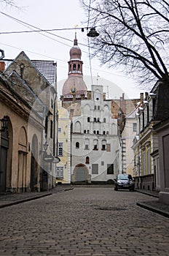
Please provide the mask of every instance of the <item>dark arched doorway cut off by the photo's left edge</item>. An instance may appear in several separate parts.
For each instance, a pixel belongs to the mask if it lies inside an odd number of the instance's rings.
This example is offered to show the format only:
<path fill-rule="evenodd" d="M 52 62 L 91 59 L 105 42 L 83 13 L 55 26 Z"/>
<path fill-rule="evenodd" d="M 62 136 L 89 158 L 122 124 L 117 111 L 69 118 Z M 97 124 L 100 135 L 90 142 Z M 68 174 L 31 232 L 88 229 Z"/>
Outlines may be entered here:
<path fill-rule="evenodd" d="M 1 132 L 0 148 L 0 192 L 6 192 L 7 187 L 7 154 L 9 148 L 8 129 Z"/>

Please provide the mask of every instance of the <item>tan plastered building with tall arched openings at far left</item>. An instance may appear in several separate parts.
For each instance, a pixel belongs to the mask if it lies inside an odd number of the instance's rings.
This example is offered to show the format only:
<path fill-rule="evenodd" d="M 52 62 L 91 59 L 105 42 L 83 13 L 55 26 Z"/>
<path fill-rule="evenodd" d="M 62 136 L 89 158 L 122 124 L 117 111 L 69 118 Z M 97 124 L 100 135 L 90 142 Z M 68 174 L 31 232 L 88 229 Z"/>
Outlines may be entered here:
<path fill-rule="evenodd" d="M 0 118 L 8 119 L 7 129 L 0 133 L 0 191 L 38 192 L 42 189 L 39 150 L 44 125 L 42 115 L 31 113 L 36 96 L 17 74 L 15 84 L 4 75 L 0 79 Z M 39 102 L 39 110 L 43 109 Z"/>

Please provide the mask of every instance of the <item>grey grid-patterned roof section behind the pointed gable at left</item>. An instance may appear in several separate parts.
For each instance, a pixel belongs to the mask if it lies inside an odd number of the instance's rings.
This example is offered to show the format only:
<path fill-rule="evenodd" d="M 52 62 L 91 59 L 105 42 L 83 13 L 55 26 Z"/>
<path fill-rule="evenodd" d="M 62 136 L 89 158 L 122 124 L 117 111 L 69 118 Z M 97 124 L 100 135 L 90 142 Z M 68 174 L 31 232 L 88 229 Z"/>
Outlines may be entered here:
<path fill-rule="evenodd" d="M 32 60 L 31 60 L 32 61 Z M 32 61 L 36 69 L 44 75 L 53 86 L 55 86 L 56 81 L 56 63 L 54 61 Z"/>

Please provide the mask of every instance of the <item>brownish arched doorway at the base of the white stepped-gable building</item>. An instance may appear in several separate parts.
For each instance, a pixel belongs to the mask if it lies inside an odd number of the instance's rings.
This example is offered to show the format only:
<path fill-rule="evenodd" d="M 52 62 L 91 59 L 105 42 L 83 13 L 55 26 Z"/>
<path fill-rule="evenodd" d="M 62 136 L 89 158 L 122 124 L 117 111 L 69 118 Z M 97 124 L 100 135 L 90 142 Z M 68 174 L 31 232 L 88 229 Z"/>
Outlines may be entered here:
<path fill-rule="evenodd" d="M 79 164 L 74 168 L 74 182 L 87 183 L 89 171 L 85 165 Z"/>

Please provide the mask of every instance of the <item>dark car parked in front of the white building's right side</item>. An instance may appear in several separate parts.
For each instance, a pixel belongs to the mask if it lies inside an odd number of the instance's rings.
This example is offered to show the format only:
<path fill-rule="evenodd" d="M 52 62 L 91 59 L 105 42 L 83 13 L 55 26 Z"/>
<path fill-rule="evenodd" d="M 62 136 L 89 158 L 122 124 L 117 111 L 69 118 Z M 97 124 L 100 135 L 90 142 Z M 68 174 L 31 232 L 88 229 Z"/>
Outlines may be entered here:
<path fill-rule="evenodd" d="M 117 174 L 117 178 L 114 178 L 114 181 L 114 190 L 130 189 L 130 191 L 134 191 L 135 182 L 130 174 Z"/>

